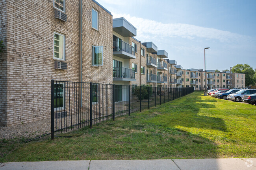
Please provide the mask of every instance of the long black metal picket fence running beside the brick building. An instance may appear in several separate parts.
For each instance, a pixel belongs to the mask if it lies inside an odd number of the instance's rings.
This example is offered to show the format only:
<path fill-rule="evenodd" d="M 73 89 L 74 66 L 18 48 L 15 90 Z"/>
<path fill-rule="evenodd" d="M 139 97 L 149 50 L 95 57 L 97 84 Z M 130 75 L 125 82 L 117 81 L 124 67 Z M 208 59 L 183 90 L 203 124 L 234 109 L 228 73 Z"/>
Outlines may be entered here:
<path fill-rule="evenodd" d="M 163 88 L 87 82 L 51 82 L 51 138 L 93 124 L 115 120 L 172 101 L 194 88 Z"/>

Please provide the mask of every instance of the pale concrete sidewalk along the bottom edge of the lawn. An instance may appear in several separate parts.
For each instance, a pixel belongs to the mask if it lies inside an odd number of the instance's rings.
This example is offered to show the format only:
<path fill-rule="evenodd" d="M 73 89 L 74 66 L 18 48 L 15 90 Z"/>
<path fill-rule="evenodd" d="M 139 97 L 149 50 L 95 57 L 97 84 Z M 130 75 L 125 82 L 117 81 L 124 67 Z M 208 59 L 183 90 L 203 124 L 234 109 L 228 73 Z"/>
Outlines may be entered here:
<path fill-rule="evenodd" d="M 256 158 L 12 162 L 0 170 L 256 170 Z"/>

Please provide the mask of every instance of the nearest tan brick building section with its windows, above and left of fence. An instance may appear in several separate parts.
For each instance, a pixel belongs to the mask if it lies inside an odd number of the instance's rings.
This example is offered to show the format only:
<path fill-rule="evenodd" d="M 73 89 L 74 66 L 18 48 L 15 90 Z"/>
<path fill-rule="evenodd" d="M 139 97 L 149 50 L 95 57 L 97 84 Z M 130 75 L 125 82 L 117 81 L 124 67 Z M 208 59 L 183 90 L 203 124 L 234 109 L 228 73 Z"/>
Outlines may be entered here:
<path fill-rule="evenodd" d="M 51 79 L 113 82 L 113 18 L 95 0 L 4 0 L 0 15 L 0 126 L 49 118 Z"/>

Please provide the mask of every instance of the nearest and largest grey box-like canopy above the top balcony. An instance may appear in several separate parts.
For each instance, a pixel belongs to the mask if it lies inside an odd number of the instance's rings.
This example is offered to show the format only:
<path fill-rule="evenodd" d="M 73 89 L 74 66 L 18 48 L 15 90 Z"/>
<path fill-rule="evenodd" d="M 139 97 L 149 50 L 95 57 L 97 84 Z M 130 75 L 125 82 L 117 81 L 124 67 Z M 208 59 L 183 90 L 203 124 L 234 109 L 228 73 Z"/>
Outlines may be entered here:
<path fill-rule="evenodd" d="M 113 19 L 113 31 L 122 35 L 122 37 L 134 37 L 137 35 L 137 29 L 123 17 Z"/>

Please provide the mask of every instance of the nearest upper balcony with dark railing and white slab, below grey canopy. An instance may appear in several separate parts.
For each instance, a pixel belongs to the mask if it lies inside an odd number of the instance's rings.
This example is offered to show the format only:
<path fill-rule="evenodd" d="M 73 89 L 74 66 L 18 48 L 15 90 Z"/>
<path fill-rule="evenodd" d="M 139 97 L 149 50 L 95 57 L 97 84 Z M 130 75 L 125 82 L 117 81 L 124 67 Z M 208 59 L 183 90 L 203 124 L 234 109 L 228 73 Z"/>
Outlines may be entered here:
<path fill-rule="evenodd" d="M 113 55 L 123 59 L 135 59 L 134 47 L 124 41 L 113 41 Z"/>

